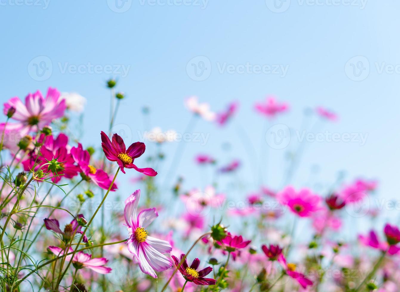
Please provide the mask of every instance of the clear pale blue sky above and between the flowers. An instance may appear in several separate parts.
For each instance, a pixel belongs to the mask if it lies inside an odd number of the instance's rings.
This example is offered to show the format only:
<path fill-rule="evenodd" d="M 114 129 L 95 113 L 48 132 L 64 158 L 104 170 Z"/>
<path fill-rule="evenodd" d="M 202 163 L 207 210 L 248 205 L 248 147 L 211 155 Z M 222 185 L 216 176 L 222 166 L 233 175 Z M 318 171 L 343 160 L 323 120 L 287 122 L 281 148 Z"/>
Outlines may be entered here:
<path fill-rule="evenodd" d="M 318 1 L 322 5 L 292 0 L 281 13 L 272 12 L 268 0 L 268 5 L 264 0 L 209 0 L 205 7 L 196 1 L 186 2 L 189 6 L 153 6 L 151 1 L 128 0 L 126 5 L 130 8 L 123 13 L 113 11 L 110 7 L 115 10 L 115 3 L 106 0 L 50 0 L 47 7 L 43 1 L 34 6 L 26 5 L 29 3 L 25 1 L 19 6 L 14 0 L 1 2 L 1 101 L 13 96 L 23 98 L 36 89 L 45 92 L 48 86 L 80 93 L 88 100 L 82 139 L 85 146 L 98 145 L 100 131 L 108 127 L 109 92 L 104 83 L 109 77 L 117 77 L 117 89 L 127 94 L 116 123 L 128 125 L 133 141 L 138 140 L 137 131 L 145 129 L 143 105 L 151 109 L 152 126 L 182 132 L 190 120 L 184 97 L 198 95 L 216 111 L 236 99 L 240 101 L 240 111 L 228 127 L 218 129 L 205 121 L 197 123 L 194 131 L 210 133 L 209 140 L 204 146 L 186 145 L 177 173 L 185 173 L 186 187 L 198 185 L 199 172 L 193 157 L 202 152 L 218 157 L 221 162 L 241 158 L 244 167 L 240 177 L 250 182 L 252 172 L 236 125 L 246 129 L 259 151 L 265 121 L 254 113 L 253 104 L 267 94 L 275 94 L 291 105 L 290 113 L 279 117 L 278 123 L 296 129 L 304 108 L 323 105 L 334 109 L 340 121 L 321 125 L 320 130 L 368 133 L 362 146 L 346 142 L 309 143 L 295 185 L 305 185 L 312 165 L 319 165 L 317 180 L 325 185 L 334 181 L 338 171 L 346 170 L 348 180 L 379 179 L 380 197 L 398 197 L 400 155 L 396 127 L 400 122 L 400 72 L 379 71 L 382 64 L 400 64 L 397 1 L 370 0 L 360 9 L 361 1 L 353 2 L 357 6 L 346 6 L 348 2 L 342 0 L 334 6 L 330 0 Z M 38 56 L 48 57 L 52 64 L 52 72 L 44 81 L 32 78 L 32 71 L 28 70 L 31 60 Z M 186 70 L 196 56 L 206 56 L 211 63 L 211 74 L 203 81 L 191 79 L 192 73 Z M 361 81 L 352 80 L 351 71 L 345 71 L 346 63 L 354 56 L 364 56 L 370 64 L 369 75 L 361 75 Z M 356 69 L 362 60 L 360 68 L 366 67 L 365 59 L 358 58 L 353 62 Z M 126 76 L 63 73 L 60 69 L 66 64 L 79 66 L 88 62 L 102 68 L 124 65 L 130 69 Z M 218 72 L 218 64 L 225 62 L 235 66 L 249 62 L 289 67 L 284 77 Z M 347 66 L 351 70 L 352 65 Z M 223 150 L 224 142 L 231 144 L 228 153 Z M 176 146 L 165 148 L 169 159 Z M 280 185 L 287 150 L 271 150 L 268 155 L 272 157 L 268 170 L 271 187 Z M 138 166 L 145 167 L 146 162 L 138 160 Z M 161 181 L 163 175 L 160 171 Z M 128 195 L 132 185 L 125 185 L 122 190 Z"/>

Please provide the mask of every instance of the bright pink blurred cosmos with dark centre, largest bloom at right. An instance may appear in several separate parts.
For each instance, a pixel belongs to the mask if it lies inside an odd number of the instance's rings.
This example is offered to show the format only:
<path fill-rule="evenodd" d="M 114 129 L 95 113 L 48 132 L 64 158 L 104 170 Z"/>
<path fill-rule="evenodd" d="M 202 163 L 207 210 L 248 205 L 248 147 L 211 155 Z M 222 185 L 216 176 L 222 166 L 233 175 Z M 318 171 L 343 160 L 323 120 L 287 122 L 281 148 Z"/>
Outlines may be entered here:
<path fill-rule="evenodd" d="M 289 186 L 279 193 L 277 198 L 300 217 L 310 217 L 314 212 L 321 209 L 319 206 L 321 197 L 314 195 L 309 189 L 301 189 L 296 192 L 293 187 Z"/>

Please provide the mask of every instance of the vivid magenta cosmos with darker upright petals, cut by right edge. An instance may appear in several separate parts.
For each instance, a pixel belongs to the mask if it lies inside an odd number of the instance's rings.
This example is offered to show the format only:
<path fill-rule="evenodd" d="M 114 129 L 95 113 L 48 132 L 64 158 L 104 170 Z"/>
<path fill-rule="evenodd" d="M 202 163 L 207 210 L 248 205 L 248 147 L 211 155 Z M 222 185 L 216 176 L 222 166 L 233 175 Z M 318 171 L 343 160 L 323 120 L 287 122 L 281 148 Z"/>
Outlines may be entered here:
<path fill-rule="evenodd" d="M 384 228 L 384 233 L 386 236 L 385 241 L 379 241 L 378 236 L 376 235 L 374 230 L 371 230 L 370 233 L 366 236 L 359 235 L 358 239 L 365 246 L 370 246 L 382 251 L 387 251 L 388 254 L 397 254 L 400 251 L 400 246 L 397 246 L 400 242 L 400 231 L 396 226 L 386 224 Z"/>

